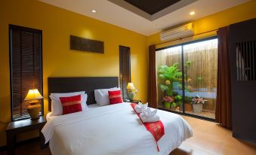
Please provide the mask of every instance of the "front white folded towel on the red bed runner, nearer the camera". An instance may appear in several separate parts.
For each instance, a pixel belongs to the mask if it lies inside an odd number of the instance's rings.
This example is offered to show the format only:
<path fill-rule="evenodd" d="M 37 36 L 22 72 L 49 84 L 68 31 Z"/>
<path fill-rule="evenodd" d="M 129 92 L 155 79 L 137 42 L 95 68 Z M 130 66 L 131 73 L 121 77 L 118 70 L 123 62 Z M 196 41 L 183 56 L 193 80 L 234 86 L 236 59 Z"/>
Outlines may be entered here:
<path fill-rule="evenodd" d="M 150 110 L 149 107 L 142 110 L 142 113 L 140 114 L 140 119 L 143 121 L 143 123 L 150 123 L 150 122 L 157 122 L 160 120 L 159 116 L 156 114 L 157 109 L 154 109 L 153 111 Z"/>

